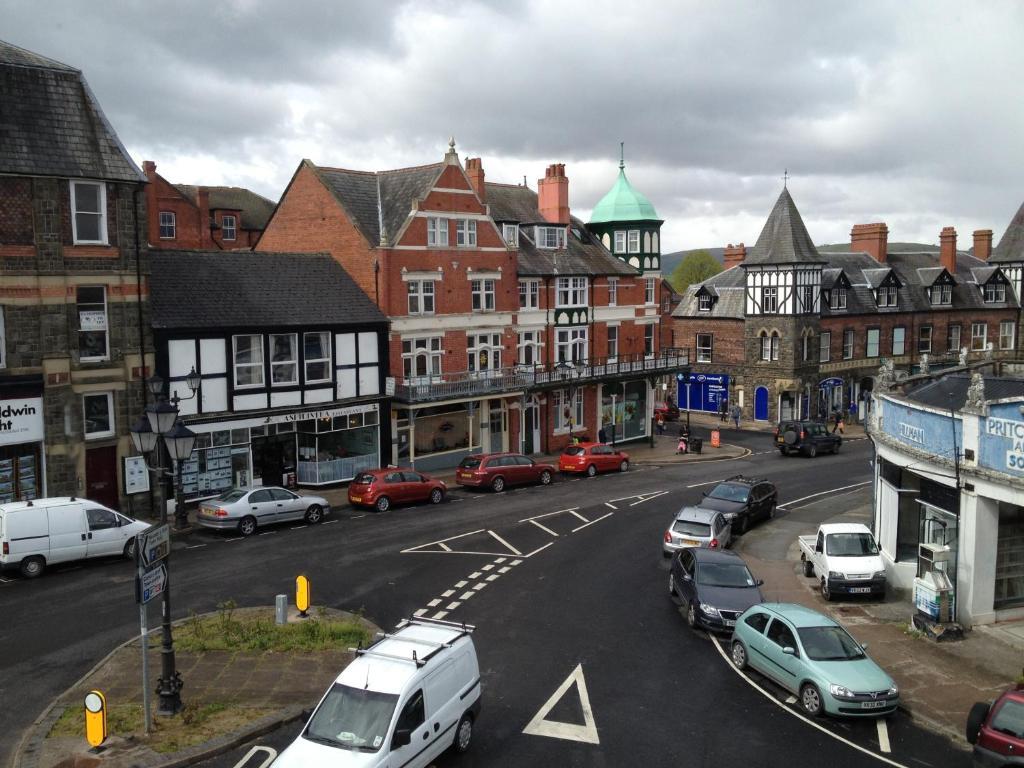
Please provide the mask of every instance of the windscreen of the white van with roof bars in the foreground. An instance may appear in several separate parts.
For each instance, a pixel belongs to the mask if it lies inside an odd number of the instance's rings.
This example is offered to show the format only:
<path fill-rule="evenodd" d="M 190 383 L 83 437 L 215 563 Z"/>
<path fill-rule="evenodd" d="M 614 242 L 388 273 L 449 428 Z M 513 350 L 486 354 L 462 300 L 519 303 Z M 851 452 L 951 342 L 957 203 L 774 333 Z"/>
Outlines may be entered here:
<path fill-rule="evenodd" d="M 387 737 L 397 703 L 398 696 L 393 693 L 335 683 L 316 708 L 302 736 L 342 750 L 377 752 Z"/>

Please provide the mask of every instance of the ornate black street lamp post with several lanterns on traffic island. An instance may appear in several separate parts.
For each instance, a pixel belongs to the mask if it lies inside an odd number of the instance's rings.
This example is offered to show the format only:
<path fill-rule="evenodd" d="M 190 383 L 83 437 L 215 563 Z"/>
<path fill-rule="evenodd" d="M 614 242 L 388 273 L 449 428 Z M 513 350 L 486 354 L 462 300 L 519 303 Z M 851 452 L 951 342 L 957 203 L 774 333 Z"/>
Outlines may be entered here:
<path fill-rule="evenodd" d="M 146 381 L 146 386 L 153 394 L 155 402 L 146 406 L 145 416 L 140 417 L 129 431 L 131 432 L 132 443 L 135 450 L 143 456 L 153 455 L 153 463 L 147 462 L 146 468 L 155 473 L 161 480 L 170 477 L 174 482 L 175 507 L 174 518 L 175 527 L 183 527 L 187 523 L 187 515 L 184 511 L 183 493 L 181 487 L 181 465 L 191 456 L 193 447 L 196 445 L 196 433 L 178 421 L 178 403 L 196 396 L 199 389 L 200 377 L 196 369 L 185 379 L 185 383 L 191 394 L 188 397 L 178 397 L 175 391 L 171 395 L 170 401 L 163 395 L 164 380 L 159 376 L 153 376 Z M 172 469 L 164 466 L 163 452 L 160 450 L 160 438 L 163 437 L 164 447 L 172 462 Z M 155 466 L 154 466 L 155 465 Z M 167 524 L 167 503 L 160 506 L 160 524 Z M 181 686 L 183 685 L 181 675 L 175 669 L 174 664 L 174 638 L 171 635 L 171 578 L 170 578 L 170 554 L 164 558 L 164 566 L 167 568 L 167 585 L 163 592 L 161 605 L 161 632 L 163 642 L 160 649 L 161 675 L 157 683 L 157 695 L 160 703 L 157 712 L 161 715 L 176 715 L 181 711 Z M 145 652 L 145 647 L 142 652 Z"/>

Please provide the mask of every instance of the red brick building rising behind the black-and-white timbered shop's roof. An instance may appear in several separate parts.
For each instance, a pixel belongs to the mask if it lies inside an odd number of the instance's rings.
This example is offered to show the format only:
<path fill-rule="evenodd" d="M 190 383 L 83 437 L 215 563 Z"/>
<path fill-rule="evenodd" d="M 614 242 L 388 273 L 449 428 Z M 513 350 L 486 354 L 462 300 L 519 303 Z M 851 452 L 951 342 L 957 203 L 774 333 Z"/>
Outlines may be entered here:
<path fill-rule="evenodd" d="M 150 248 L 249 250 L 273 213 L 273 201 L 241 186 L 172 184 L 152 160 L 142 170 Z"/>

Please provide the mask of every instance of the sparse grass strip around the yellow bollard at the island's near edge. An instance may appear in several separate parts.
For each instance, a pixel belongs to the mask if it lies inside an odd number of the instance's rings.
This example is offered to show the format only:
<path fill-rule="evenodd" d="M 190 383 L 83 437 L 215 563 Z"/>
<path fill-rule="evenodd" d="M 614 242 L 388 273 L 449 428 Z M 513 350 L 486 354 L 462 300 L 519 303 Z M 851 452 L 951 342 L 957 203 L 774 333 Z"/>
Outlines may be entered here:
<path fill-rule="evenodd" d="M 142 705 L 115 705 L 106 712 L 106 727 L 111 735 L 131 735 L 154 752 L 168 754 L 230 733 L 271 712 L 221 702 L 189 703 L 177 717 L 154 716 L 151 733 L 146 737 L 142 733 Z M 78 736 L 85 740 L 83 708 L 69 707 L 65 710 L 47 734 L 47 738 L 57 736 Z"/>

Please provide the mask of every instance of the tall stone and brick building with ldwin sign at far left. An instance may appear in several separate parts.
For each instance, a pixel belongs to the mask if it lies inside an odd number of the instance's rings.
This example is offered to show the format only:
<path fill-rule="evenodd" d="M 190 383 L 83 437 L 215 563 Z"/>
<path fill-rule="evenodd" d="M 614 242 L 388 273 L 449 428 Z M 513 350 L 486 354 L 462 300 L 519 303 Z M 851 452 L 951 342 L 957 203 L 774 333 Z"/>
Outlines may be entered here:
<path fill-rule="evenodd" d="M 145 176 L 80 71 L 0 42 L 0 502 L 128 509 L 152 359 Z"/>

